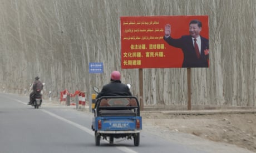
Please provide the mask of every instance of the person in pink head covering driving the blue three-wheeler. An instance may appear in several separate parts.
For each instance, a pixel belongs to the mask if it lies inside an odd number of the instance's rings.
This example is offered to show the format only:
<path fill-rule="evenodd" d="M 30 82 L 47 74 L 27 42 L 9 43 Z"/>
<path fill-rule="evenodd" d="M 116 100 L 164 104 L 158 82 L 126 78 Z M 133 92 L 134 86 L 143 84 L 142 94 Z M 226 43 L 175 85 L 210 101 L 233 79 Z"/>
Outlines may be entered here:
<path fill-rule="evenodd" d="M 96 99 L 101 96 L 131 96 L 129 87 L 121 83 L 121 74 L 119 71 L 113 71 L 110 77 L 110 83 L 103 86 Z"/>

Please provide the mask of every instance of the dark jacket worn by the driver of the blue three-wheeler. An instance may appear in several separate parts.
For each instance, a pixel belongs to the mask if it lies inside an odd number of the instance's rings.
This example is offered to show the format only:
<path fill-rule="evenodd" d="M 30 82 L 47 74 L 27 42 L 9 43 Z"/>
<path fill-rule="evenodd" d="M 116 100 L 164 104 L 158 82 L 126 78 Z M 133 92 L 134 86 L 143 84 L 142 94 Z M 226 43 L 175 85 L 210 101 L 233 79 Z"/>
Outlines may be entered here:
<path fill-rule="evenodd" d="M 100 93 L 97 95 L 97 98 L 100 98 L 101 96 L 125 96 L 129 95 L 131 96 L 130 89 L 126 84 L 122 84 L 120 80 L 111 80 L 109 84 L 106 84 L 103 86 Z"/>

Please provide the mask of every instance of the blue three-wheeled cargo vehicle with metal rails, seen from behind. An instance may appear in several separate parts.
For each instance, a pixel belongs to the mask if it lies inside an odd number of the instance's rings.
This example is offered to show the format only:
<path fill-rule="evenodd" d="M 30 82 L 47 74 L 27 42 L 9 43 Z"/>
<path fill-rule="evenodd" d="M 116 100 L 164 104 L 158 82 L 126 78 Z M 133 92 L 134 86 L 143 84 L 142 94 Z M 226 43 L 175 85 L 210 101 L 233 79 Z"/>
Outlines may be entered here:
<path fill-rule="evenodd" d="M 139 101 L 135 96 L 102 96 L 96 100 L 92 130 L 95 131 L 95 144 L 114 139 L 133 139 L 134 145 L 140 144 L 142 119 Z"/>

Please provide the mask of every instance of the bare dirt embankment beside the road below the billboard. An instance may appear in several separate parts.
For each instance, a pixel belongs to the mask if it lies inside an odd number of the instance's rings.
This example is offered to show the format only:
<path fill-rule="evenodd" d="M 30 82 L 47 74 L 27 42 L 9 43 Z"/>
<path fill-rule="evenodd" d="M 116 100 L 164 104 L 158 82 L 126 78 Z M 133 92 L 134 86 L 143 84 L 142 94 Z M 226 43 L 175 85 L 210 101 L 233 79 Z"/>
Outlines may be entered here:
<path fill-rule="evenodd" d="M 176 115 L 143 112 L 142 118 L 147 124 L 163 130 L 189 133 L 256 152 L 256 113 Z"/>

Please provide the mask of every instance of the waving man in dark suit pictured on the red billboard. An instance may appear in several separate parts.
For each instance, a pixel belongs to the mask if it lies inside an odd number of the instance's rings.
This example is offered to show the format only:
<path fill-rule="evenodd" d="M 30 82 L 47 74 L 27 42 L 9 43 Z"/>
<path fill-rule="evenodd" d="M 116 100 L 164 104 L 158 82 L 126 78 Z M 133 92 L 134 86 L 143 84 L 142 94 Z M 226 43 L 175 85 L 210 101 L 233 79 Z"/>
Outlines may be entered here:
<path fill-rule="evenodd" d="M 171 25 L 165 25 L 164 40 L 169 45 L 180 48 L 183 52 L 183 68 L 208 68 L 209 67 L 209 40 L 202 37 L 200 32 L 202 23 L 191 20 L 189 23 L 189 35 L 182 35 L 175 39 L 171 37 Z"/>

